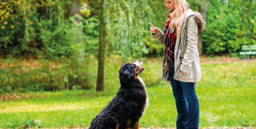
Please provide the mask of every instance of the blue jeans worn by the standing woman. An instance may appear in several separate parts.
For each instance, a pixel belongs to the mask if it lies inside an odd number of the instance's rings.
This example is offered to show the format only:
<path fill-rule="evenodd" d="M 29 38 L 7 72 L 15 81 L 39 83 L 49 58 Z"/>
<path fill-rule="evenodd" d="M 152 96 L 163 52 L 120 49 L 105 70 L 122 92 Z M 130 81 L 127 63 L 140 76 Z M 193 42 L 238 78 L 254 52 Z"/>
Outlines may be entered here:
<path fill-rule="evenodd" d="M 196 90 L 194 90 L 194 83 L 173 79 L 175 70 L 173 66 L 171 67 L 169 77 L 178 111 L 176 127 L 177 129 L 197 129 L 199 125 L 199 103 Z"/>

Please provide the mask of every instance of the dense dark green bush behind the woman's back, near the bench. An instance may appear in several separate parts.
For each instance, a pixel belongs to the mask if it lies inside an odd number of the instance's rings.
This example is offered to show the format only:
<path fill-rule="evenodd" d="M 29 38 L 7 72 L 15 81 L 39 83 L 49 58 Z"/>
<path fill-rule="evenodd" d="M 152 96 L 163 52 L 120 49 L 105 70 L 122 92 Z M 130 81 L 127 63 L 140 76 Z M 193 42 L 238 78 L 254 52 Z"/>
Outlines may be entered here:
<path fill-rule="evenodd" d="M 244 30 L 240 28 L 239 8 L 236 7 L 235 1 L 228 4 L 218 1 L 210 3 L 207 9 L 206 30 L 202 34 L 204 51 L 209 55 L 229 53 L 231 56 L 238 56 L 242 45 L 250 42 L 250 39 L 244 39 Z M 256 44 L 256 40 L 252 39 L 250 44 Z"/>

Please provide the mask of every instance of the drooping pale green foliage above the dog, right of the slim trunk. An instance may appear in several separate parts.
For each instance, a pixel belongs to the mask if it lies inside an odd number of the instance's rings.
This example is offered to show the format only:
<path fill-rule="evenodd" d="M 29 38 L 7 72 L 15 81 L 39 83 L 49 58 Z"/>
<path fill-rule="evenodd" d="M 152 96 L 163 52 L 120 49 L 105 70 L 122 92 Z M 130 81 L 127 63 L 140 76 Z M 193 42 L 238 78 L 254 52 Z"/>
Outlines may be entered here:
<path fill-rule="evenodd" d="M 104 9 L 109 49 L 125 57 L 141 57 L 147 53 L 142 37 L 152 15 L 149 2 L 108 0 Z"/>

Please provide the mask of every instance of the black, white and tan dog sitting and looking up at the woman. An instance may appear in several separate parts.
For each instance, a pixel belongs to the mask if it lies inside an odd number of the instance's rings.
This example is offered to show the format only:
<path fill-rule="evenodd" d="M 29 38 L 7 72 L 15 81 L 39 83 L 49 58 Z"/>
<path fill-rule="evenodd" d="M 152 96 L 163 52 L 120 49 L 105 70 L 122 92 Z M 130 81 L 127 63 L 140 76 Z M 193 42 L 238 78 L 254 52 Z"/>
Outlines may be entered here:
<path fill-rule="evenodd" d="M 119 71 L 121 87 L 91 121 L 89 129 L 139 129 L 139 119 L 149 106 L 145 84 L 139 77 L 144 70 L 141 60 L 122 65 Z"/>

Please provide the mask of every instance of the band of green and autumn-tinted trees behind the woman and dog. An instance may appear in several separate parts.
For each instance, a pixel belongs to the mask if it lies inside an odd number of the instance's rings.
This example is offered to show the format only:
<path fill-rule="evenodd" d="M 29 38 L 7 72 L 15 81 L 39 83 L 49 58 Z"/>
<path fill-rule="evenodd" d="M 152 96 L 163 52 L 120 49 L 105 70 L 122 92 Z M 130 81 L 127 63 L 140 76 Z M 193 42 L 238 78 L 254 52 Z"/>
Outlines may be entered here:
<path fill-rule="evenodd" d="M 238 56 L 242 45 L 256 44 L 255 1 L 188 3 L 206 17 L 206 30 L 199 36 L 201 54 Z M 0 8 L 2 59 L 47 60 L 72 66 L 62 73 L 47 70 L 47 78 L 61 77 L 58 84 L 45 90 L 71 89 L 74 85 L 91 88 L 93 83 L 86 81 L 96 82 L 96 77 L 97 90 L 103 90 L 105 57 L 121 55 L 126 62 L 127 57 L 135 61 L 142 56 L 162 56 L 163 47 L 151 37 L 148 23 L 163 29 L 168 15 L 165 1 L 3 0 Z M 89 68 L 91 55 L 98 57 L 96 76 Z"/>

